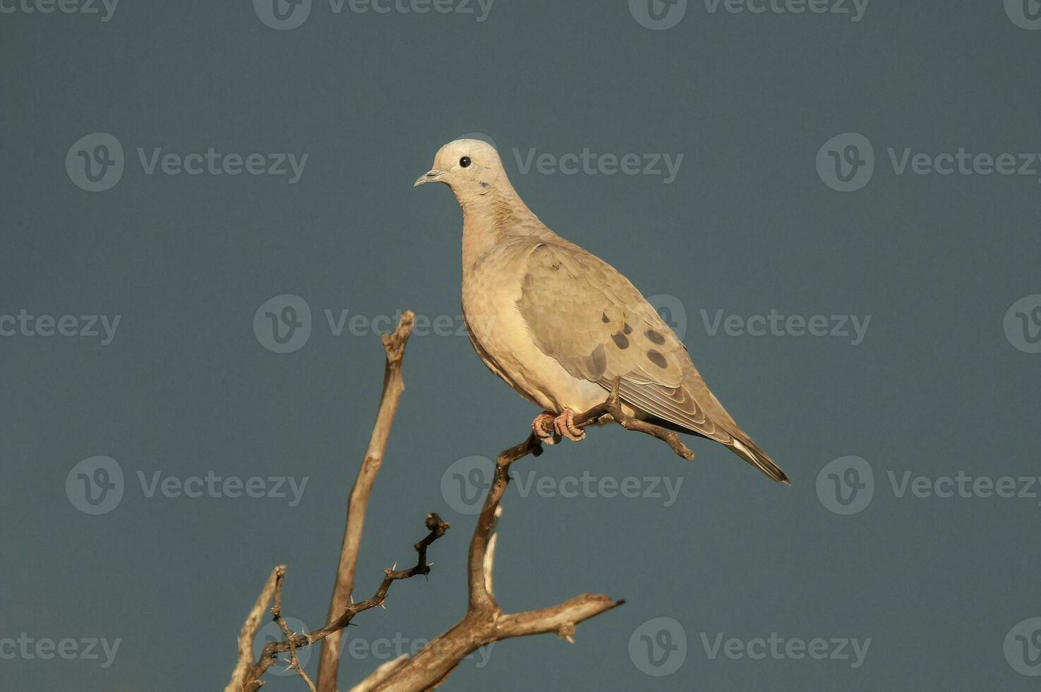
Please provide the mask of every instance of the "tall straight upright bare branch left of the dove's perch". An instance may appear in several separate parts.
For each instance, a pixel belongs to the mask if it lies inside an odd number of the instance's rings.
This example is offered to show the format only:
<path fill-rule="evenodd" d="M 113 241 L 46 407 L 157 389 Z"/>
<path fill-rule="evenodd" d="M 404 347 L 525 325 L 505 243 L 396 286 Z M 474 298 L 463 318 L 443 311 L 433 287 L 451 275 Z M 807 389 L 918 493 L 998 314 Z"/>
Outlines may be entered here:
<path fill-rule="evenodd" d="M 369 495 L 372 492 L 376 474 L 383 464 L 383 453 L 386 450 L 390 436 L 390 425 L 398 411 L 398 401 L 405 385 L 402 380 L 402 359 L 405 355 L 405 345 L 412 332 L 414 315 L 406 311 L 401 316 L 398 327 L 391 335 L 380 335 L 383 340 L 383 350 L 386 352 L 386 365 L 383 368 L 383 393 L 376 414 L 372 435 L 369 438 L 369 448 L 365 458 L 358 469 L 358 475 L 351 489 L 347 501 L 347 522 L 344 526 L 344 542 L 339 552 L 339 563 L 333 583 L 332 597 L 329 599 L 329 612 L 326 621 L 332 621 L 348 606 L 351 592 L 354 589 L 354 571 L 358 561 L 358 550 L 361 547 L 361 534 L 365 524 L 365 510 L 369 506 Z M 320 692 L 336 692 L 336 677 L 339 668 L 340 633 L 332 633 L 322 642 L 322 652 L 319 657 Z"/>

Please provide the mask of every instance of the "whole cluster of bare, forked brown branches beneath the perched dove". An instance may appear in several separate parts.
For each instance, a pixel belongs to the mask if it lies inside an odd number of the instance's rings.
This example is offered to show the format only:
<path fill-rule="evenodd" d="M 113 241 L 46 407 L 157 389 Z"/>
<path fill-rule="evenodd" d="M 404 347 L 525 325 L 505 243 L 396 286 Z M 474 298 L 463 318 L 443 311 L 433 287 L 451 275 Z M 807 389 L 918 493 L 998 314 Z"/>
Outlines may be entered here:
<path fill-rule="evenodd" d="M 231 682 L 225 692 L 256 692 L 263 685 L 260 676 L 276 661 L 276 654 L 289 652 L 289 669 L 297 672 L 311 692 L 336 692 L 339 665 L 340 638 L 351 620 L 377 606 L 384 607 L 390 585 L 400 579 L 417 574 L 426 576 L 433 563 L 427 562 L 427 549 L 434 541 L 445 536 L 449 524 L 436 514 L 427 515 L 428 534 L 413 547 L 416 564 L 409 569 L 397 569 L 397 564 L 384 570 L 383 580 L 376 593 L 360 602 L 354 602 L 351 593 L 354 587 L 355 567 L 361 546 L 369 496 L 376 479 L 389 439 L 390 425 L 398 409 L 398 402 L 405 387 L 402 381 L 402 361 L 405 346 L 412 330 L 414 316 L 411 312 L 402 315 L 398 327 L 390 335 L 381 335 L 386 354 L 383 391 L 379 411 L 370 437 L 369 447 L 358 470 L 354 486 L 348 498 L 347 522 L 340 548 L 339 562 L 329 603 L 327 624 L 311 633 L 295 634 L 289 631 L 282 617 L 281 593 L 285 578 L 285 566 L 280 565 L 268 577 L 260 595 L 243 624 L 238 636 L 238 661 L 232 672 Z M 665 442 L 677 454 L 691 460 L 694 454 L 680 440 L 679 436 L 659 425 L 638 420 L 623 410 L 618 397 L 619 380 L 615 380 L 607 399 L 592 409 L 577 414 L 574 424 L 585 427 L 613 420 L 627 430 L 635 430 Z M 542 423 L 547 434 L 554 434 L 552 421 Z M 542 453 L 542 444 L 534 430 L 524 442 L 504 449 L 496 459 L 496 472 L 484 505 L 471 537 L 467 554 L 467 608 L 462 619 L 448 632 L 434 638 L 415 656 L 402 656 L 395 661 L 380 665 L 352 692 L 420 692 L 438 687 L 468 654 L 493 642 L 512 637 L 538 634 L 555 634 L 567 642 L 575 641 L 576 625 L 591 617 L 621 606 L 624 600 L 613 600 L 603 594 L 580 594 L 556 606 L 505 613 L 496 601 L 492 592 L 494 567 L 496 529 L 503 513 L 502 498 L 509 483 L 510 466 L 531 454 Z M 260 625 L 263 611 L 274 598 L 272 617 L 278 623 L 285 639 L 271 642 L 263 647 L 260 657 L 252 661 L 252 643 Z M 322 642 L 316 685 L 311 682 L 300 665 L 297 650 Z"/>

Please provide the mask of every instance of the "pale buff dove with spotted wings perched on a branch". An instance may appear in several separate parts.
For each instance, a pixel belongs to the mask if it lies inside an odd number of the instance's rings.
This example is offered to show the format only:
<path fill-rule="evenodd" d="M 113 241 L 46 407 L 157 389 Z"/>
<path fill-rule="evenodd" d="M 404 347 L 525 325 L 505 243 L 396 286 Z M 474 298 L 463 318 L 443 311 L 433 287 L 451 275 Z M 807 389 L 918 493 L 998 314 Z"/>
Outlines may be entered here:
<path fill-rule="evenodd" d="M 494 147 L 479 140 L 446 144 L 414 187 L 428 182 L 447 184 L 462 207 L 466 333 L 491 372 L 542 407 L 532 421 L 539 439 L 582 440 L 576 413 L 602 403 L 617 382 L 627 415 L 714 440 L 789 484 L 629 279 L 528 208 Z M 550 421 L 555 435 L 543 427 Z"/>

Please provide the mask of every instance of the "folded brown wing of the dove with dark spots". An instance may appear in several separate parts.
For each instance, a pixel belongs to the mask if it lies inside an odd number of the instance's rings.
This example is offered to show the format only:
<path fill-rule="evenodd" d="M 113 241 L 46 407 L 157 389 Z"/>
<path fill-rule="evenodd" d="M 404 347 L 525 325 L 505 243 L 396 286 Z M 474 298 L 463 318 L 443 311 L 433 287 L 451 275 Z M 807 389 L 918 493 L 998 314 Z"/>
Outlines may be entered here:
<path fill-rule="evenodd" d="M 619 378 L 618 396 L 637 409 L 723 444 L 743 437 L 683 342 L 600 257 L 569 243 L 534 245 L 517 308 L 539 350 L 572 376 L 608 391 Z"/>

